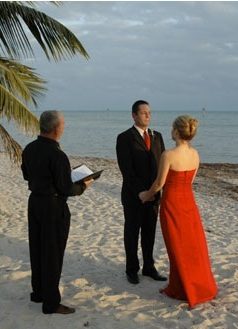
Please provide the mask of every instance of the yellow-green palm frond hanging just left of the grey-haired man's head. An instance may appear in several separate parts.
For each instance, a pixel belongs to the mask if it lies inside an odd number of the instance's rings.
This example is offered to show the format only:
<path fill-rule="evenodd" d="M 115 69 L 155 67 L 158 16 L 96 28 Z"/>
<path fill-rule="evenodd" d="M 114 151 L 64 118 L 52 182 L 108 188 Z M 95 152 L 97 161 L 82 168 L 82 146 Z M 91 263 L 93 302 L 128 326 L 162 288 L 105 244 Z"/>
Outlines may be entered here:
<path fill-rule="evenodd" d="M 8 121 L 14 120 L 27 134 L 36 134 L 39 131 L 37 117 L 18 98 L 0 84 L 0 117 Z"/>

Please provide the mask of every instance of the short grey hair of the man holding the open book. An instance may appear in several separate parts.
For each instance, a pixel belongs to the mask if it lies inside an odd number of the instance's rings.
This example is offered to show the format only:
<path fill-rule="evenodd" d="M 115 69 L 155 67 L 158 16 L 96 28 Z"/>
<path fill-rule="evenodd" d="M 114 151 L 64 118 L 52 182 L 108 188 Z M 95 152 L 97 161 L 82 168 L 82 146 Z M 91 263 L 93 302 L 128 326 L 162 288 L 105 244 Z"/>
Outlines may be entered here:
<path fill-rule="evenodd" d="M 45 111 L 40 116 L 40 132 L 51 133 L 58 125 L 62 113 L 56 110 Z"/>

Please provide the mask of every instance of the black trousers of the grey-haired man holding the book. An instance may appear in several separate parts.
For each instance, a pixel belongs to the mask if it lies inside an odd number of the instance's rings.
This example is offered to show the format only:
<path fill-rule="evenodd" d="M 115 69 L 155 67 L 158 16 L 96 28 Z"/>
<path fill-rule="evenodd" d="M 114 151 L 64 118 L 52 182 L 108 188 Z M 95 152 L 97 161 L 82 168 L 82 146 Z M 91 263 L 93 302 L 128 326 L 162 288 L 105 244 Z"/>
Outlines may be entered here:
<path fill-rule="evenodd" d="M 29 247 L 33 300 L 44 313 L 53 313 L 60 301 L 59 280 L 69 233 L 70 212 L 65 199 L 31 194 L 28 202 Z"/>

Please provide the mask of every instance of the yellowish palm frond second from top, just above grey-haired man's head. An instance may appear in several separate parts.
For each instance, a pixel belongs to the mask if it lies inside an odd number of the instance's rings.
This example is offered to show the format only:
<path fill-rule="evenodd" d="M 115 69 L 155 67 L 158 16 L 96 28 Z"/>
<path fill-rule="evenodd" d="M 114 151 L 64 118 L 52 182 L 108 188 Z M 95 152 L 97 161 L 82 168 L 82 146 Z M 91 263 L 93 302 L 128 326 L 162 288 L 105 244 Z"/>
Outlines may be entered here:
<path fill-rule="evenodd" d="M 44 83 L 46 81 L 34 73 L 32 68 L 0 57 L 0 84 L 16 97 L 37 107 L 36 97 L 46 91 Z"/>

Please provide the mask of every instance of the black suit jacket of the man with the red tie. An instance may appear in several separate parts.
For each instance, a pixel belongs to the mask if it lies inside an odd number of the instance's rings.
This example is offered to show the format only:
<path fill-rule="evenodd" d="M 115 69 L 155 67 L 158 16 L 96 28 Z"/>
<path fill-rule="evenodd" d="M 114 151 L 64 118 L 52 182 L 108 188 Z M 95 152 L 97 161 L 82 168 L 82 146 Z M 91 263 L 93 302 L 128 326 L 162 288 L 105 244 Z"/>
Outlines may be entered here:
<path fill-rule="evenodd" d="M 117 137 L 117 161 L 123 176 L 123 205 L 141 204 L 138 194 L 148 190 L 157 176 L 160 156 L 165 147 L 159 132 L 149 130 L 149 135 L 150 151 L 147 151 L 143 137 L 134 126 Z M 158 202 L 159 194 L 155 202 Z"/>

